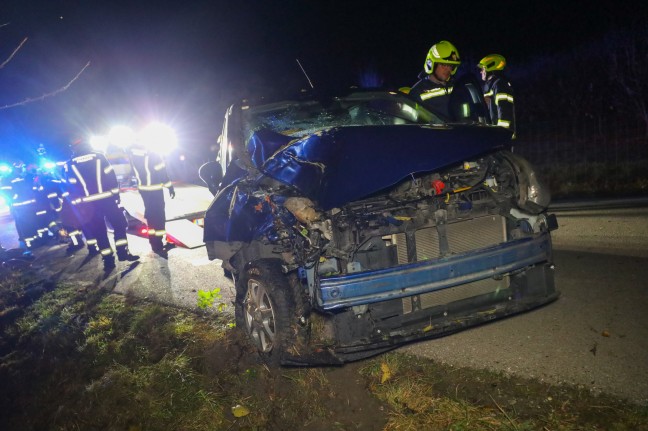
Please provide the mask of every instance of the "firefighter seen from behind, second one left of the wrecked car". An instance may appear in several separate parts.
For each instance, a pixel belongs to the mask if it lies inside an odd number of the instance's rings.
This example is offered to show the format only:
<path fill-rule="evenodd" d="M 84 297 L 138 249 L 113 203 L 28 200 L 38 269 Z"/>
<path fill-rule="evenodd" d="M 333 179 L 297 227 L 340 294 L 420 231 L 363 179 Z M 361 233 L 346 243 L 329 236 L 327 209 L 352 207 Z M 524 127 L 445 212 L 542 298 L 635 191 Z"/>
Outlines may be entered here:
<path fill-rule="evenodd" d="M 115 268 L 106 221 L 113 228 L 117 258 L 131 262 L 139 259 L 128 251 L 128 222 L 119 207 L 119 184 L 112 165 L 103 154 L 93 152 L 83 140 L 75 140 L 71 148 L 72 159 L 65 164 L 69 198 L 81 214 L 79 220 L 84 232 L 89 232 L 97 240 L 104 269 L 111 271 Z"/>

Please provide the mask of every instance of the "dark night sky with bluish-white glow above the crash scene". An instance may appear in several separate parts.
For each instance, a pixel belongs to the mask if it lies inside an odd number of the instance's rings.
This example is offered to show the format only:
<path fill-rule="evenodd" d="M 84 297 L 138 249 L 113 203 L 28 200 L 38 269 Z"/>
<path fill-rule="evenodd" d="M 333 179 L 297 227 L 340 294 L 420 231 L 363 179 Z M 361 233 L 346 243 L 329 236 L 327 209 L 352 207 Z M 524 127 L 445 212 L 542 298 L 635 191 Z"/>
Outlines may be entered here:
<path fill-rule="evenodd" d="M 0 70 L 0 106 L 60 88 L 91 66 L 56 97 L 0 110 L 0 158 L 41 142 L 56 152 L 71 135 L 151 119 L 207 157 L 233 98 L 307 85 L 296 58 L 316 86 L 411 85 L 442 39 L 471 68 L 491 52 L 515 67 L 645 19 L 641 2 L 617 3 L 5 0 L 0 61 L 29 41 Z"/>

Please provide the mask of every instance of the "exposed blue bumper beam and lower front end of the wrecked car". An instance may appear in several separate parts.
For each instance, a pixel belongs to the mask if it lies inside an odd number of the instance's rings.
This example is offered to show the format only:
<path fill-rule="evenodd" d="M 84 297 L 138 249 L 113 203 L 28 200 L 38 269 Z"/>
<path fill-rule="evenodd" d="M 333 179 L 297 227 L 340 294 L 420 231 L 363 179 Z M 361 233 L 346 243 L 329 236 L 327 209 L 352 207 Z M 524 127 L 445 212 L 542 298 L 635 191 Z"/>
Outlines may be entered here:
<path fill-rule="evenodd" d="M 559 297 L 548 232 L 445 258 L 320 280 L 320 343 L 285 365 L 341 364 L 523 313 Z M 319 346 L 319 347 L 317 347 Z M 325 347 L 326 346 L 326 347 Z"/>

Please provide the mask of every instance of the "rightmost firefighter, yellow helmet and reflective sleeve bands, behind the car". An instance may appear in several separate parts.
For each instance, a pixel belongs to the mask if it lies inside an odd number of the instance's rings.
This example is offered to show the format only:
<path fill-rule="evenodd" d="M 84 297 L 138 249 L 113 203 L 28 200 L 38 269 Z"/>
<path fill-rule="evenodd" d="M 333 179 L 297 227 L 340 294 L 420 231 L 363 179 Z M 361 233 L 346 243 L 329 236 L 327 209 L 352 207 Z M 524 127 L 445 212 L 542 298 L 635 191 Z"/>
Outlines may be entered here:
<path fill-rule="evenodd" d="M 490 54 L 482 58 L 477 67 L 484 81 L 484 99 L 491 123 L 509 129 L 515 138 L 515 102 L 511 82 L 504 76 L 506 59 Z"/>

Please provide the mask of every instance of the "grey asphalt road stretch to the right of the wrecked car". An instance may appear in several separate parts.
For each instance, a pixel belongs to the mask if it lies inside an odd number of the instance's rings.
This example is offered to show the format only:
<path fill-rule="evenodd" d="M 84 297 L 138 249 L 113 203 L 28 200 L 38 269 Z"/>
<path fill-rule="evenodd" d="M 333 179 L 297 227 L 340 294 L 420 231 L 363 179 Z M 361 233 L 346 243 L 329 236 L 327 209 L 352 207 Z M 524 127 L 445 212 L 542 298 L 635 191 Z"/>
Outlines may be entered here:
<path fill-rule="evenodd" d="M 648 208 L 556 214 L 556 302 L 402 350 L 648 404 Z"/>

